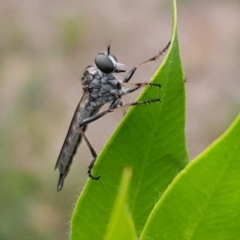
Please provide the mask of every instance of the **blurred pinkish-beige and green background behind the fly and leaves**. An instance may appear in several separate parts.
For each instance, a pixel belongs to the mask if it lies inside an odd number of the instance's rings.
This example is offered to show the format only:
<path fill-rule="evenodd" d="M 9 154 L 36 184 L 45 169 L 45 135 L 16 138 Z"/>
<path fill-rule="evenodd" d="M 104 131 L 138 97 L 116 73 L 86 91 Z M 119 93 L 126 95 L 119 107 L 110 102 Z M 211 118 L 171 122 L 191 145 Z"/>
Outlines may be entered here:
<path fill-rule="evenodd" d="M 239 13 L 237 0 L 178 1 L 191 158 L 239 113 Z M 61 193 L 54 165 L 83 69 L 110 40 L 130 69 L 170 35 L 169 0 L 0 0 L 0 239 L 68 238 L 91 155 L 82 144 Z M 142 67 L 134 81 L 149 80 L 157 67 Z M 87 135 L 97 151 L 121 119 L 120 111 L 91 124 Z"/>

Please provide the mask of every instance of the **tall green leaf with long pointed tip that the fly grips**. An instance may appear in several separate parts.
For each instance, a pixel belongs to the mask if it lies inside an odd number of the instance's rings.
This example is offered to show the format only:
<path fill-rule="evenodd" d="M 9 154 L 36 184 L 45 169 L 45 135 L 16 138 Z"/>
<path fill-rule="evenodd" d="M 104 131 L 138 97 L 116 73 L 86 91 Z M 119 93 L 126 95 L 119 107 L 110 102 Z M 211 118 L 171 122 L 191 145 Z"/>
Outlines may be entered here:
<path fill-rule="evenodd" d="M 188 162 L 185 144 L 185 90 L 177 39 L 176 4 L 173 5 L 171 46 L 152 81 L 139 99 L 161 97 L 161 103 L 132 107 L 98 157 L 94 175 L 78 199 L 72 216 L 71 239 L 103 239 L 116 199 L 120 176 L 133 170 L 130 210 L 138 233 L 156 200 Z M 136 60 L 137 61 L 137 60 Z M 91 126 L 90 126 L 91 127 Z"/>

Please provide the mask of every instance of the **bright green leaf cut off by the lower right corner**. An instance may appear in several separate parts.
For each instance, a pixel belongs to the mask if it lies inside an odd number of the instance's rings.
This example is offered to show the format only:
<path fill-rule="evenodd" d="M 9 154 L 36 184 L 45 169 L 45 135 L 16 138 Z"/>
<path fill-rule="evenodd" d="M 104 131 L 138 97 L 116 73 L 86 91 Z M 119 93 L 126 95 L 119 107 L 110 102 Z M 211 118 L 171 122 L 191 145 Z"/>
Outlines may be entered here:
<path fill-rule="evenodd" d="M 141 240 L 240 239 L 240 115 L 173 181 Z"/>

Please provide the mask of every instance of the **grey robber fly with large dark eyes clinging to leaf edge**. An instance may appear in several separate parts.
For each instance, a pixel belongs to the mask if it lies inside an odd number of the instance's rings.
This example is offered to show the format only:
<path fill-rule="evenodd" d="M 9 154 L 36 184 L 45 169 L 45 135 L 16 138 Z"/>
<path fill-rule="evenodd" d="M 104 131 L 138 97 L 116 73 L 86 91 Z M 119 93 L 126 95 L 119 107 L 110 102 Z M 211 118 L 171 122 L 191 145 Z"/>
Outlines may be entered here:
<path fill-rule="evenodd" d="M 85 135 L 89 123 L 119 108 L 160 101 L 160 98 L 156 98 L 123 105 L 121 100 L 123 95 L 132 93 L 141 87 L 161 87 L 161 85 L 157 83 L 131 84 L 129 81 L 138 67 L 158 60 L 160 56 L 167 51 L 169 45 L 170 42 L 157 55 L 133 67 L 123 80 L 120 80 L 117 77 L 117 73 L 126 72 L 126 67 L 122 63 L 119 63 L 117 58 L 110 52 L 110 45 L 107 46 L 107 51 L 100 52 L 96 56 L 94 65 L 85 68 L 81 78 L 83 96 L 77 105 L 55 166 L 55 169 L 58 168 L 60 172 L 57 185 L 58 192 L 63 188 L 64 179 L 69 172 L 74 155 L 77 152 L 77 148 L 81 143 L 82 138 L 87 143 L 93 156 L 93 159 L 88 166 L 88 176 L 94 180 L 100 178 L 100 176 L 92 175 L 92 169 L 97 154 Z M 108 110 L 98 113 L 105 103 L 110 104 Z"/>

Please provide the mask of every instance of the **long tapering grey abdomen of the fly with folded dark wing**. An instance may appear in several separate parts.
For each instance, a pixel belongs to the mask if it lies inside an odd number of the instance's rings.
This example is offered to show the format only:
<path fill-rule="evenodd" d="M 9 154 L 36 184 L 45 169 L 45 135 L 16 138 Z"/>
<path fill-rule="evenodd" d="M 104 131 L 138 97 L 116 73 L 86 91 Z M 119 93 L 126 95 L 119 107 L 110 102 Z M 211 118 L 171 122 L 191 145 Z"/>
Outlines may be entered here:
<path fill-rule="evenodd" d="M 85 95 L 85 94 L 84 94 Z M 60 191 L 64 184 L 64 179 L 69 172 L 69 168 L 73 161 L 74 155 L 77 152 L 77 148 L 82 140 L 82 135 L 79 133 L 79 125 L 81 124 L 82 120 L 88 118 L 90 113 L 84 109 L 82 106 L 82 101 L 84 99 L 84 95 L 77 105 L 75 113 L 73 115 L 71 124 L 68 129 L 67 136 L 64 140 L 62 149 L 58 156 L 58 160 L 55 165 L 55 169 L 59 169 L 60 176 L 58 181 L 57 190 Z M 86 131 L 87 126 L 83 127 L 83 131 Z"/>

